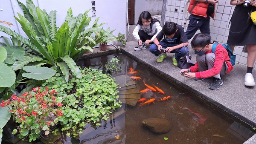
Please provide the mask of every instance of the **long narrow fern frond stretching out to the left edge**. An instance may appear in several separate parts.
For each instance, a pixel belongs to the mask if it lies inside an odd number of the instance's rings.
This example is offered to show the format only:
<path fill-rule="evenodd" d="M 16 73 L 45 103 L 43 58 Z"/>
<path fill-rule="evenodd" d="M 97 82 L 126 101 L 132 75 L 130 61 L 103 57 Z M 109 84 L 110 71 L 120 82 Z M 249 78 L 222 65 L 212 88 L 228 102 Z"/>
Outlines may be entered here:
<path fill-rule="evenodd" d="M 28 45 L 29 47 L 32 48 L 33 52 L 35 52 L 35 53 L 37 53 L 37 54 L 43 55 L 43 54 L 38 50 L 38 48 L 37 48 L 33 43 L 31 43 L 31 41 L 29 41 L 29 40 L 26 39 L 25 37 L 19 35 L 17 32 L 13 32 L 13 31 L 12 31 L 11 29 L 9 29 L 8 27 L 2 26 L 2 25 L 0 25 L 0 31 L 1 31 L 1 32 L 5 32 L 6 34 L 11 35 L 12 37 L 15 37 L 15 38 L 17 38 L 18 40 L 20 40 L 22 43 Z"/>

